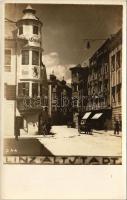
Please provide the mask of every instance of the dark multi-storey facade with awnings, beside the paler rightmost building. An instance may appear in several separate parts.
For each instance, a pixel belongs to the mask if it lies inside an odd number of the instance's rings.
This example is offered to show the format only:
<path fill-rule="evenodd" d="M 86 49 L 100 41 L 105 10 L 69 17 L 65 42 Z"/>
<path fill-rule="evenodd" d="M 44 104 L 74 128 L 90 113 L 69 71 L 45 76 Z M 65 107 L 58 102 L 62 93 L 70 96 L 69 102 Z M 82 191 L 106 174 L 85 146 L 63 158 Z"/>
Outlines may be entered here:
<path fill-rule="evenodd" d="M 110 39 L 107 39 L 89 60 L 88 104 L 86 111 L 91 112 L 91 116 L 102 113 L 101 118 L 92 122 L 95 128 L 100 129 L 110 129 L 112 126 L 109 45 Z"/>

